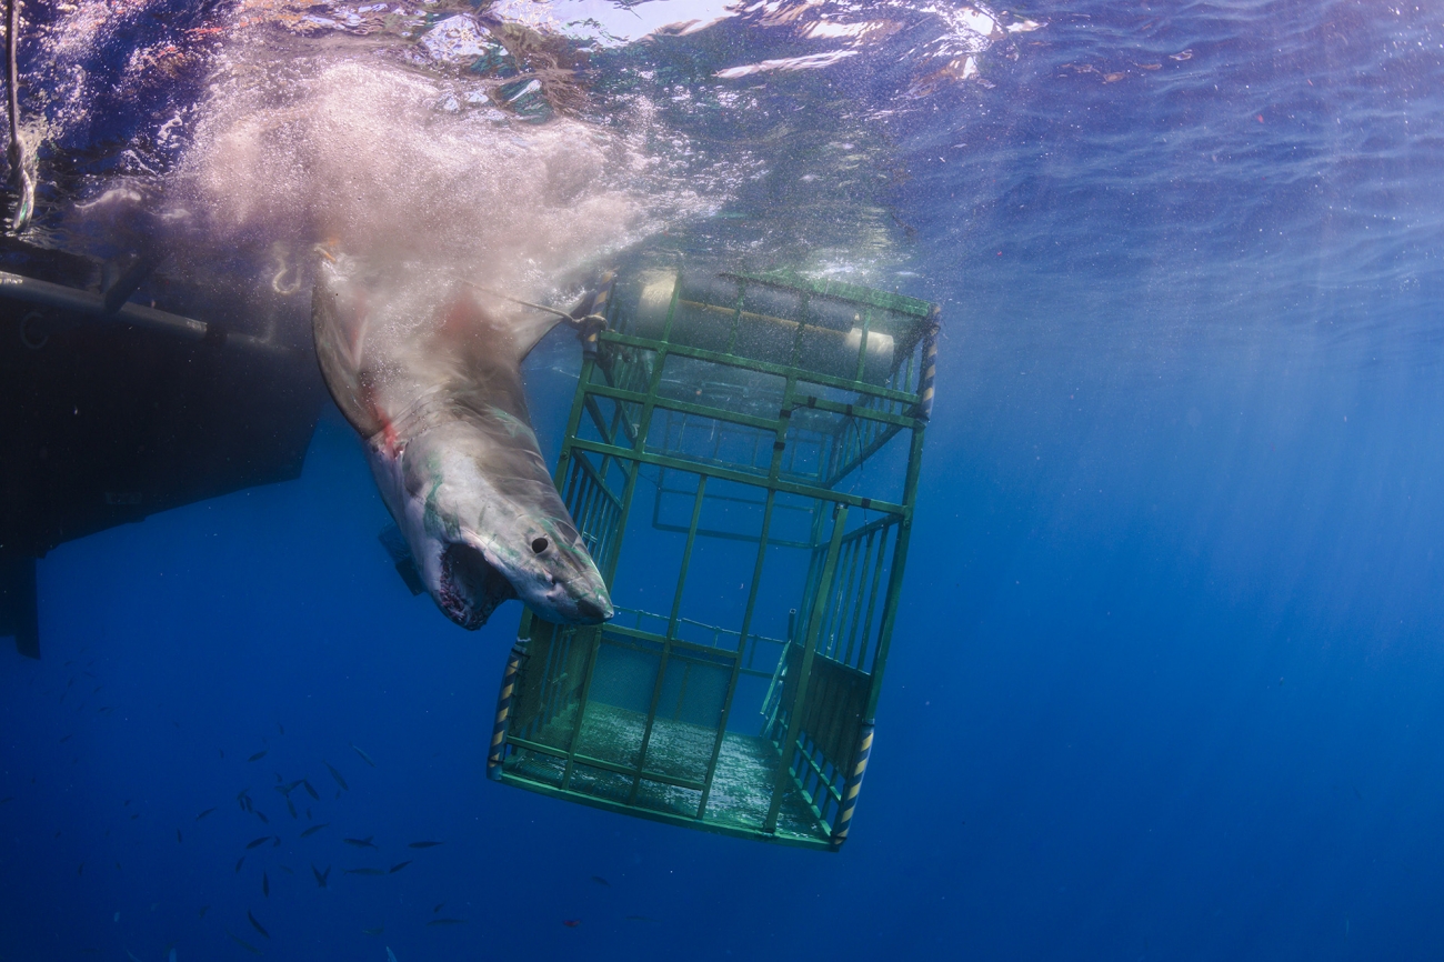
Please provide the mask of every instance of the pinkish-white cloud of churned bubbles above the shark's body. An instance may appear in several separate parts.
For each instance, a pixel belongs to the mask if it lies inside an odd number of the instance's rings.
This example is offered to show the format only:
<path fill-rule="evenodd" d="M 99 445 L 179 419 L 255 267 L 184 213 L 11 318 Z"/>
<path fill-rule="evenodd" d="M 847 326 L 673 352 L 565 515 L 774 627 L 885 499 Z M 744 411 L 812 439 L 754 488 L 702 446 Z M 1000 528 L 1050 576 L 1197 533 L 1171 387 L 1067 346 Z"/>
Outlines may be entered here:
<path fill-rule="evenodd" d="M 523 296 L 647 230 L 582 121 L 498 126 L 438 108 L 438 82 L 355 59 L 219 87 L 179 170 L 219 237 L 423 260 Z"/>

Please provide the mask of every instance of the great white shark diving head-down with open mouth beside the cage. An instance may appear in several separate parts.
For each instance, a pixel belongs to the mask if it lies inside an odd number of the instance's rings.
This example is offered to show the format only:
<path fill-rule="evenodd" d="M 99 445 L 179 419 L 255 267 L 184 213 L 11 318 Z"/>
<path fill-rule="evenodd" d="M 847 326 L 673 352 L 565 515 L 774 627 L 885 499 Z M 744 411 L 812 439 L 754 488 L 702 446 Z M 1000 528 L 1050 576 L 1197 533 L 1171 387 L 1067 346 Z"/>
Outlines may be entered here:
<path fill-rule="evenodd" d="M 521 387 L 521 361 L 557 321 L 442 274 L 347 256 L 321 266 L 312 332 L 326 387 L 423 585 L 464 628 L 508 598 L 559 624 L 612 617 Z"/>

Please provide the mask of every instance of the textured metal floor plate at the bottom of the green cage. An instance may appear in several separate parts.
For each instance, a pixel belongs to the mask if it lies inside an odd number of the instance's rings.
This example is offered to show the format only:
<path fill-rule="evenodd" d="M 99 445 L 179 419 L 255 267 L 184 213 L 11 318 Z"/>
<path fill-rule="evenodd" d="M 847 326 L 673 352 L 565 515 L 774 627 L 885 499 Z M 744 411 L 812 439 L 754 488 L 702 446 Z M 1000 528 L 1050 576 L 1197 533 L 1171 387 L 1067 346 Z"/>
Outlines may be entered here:
<path fill-rule="evenodd" d="M 562 712 L 534 738 L 537 742 L 565 745 L 576 708 Z M 588 755 L 628 768 L 637 767 L 647 716 L 641 712 L 612 705 L 592 703 L 586 708 L 586 722 L 578 745 L 579 755 Z M 706 779 L 712 755 L 715 729 L 703 725 L 658 718 L 647 742 L 645 773 L 663 774 L 689 781 Z M 559 748 L 559 751 L 565 751 Z M 507 763 L 516 774 L 560 787 L 566 760 L 536 751 L 520 751 Z M 718 754 L 716 776 L 708 794 L 703 822 L 741 829 L 761 831 L 773 799 L 773 779 L 777 750 L 765 738 L 726 732 Z M 566 786 L 608 802 L 638 809 L 696 818 L 702 793 L 664 781 L 643 777 L 637 797 L 630 799 L 634 776 L 576 763 Z M 793 789 L 783 799 L 777 818 L 777 833 L 793 838 L 826 838 L 812 809 Z"/>

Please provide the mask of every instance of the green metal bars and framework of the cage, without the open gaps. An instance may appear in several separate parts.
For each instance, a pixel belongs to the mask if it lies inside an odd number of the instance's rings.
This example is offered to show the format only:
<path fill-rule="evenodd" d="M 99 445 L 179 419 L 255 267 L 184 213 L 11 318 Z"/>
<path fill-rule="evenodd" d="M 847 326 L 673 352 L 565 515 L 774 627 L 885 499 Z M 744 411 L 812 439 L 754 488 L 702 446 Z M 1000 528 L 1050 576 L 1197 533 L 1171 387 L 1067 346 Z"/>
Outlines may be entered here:
<path fill-rule="evenodd" d="M 618 303 L 611 298 L 611 279 L 604 285 L 592 305 L 593 313 L 604 316 L 608 325 L 605 329 L 592 329 L 583 339 L 582 371 L 553 477 L 557 490 L 572 510 L 578 529 L 583 532 L 583 537 L 592 550 L 592 556 L 604 579 L 611 586 L 617 576 L 624 534 L 628 530 L 632 507 L 638 497 L 638 480 L 643 475 L 643 468 L 656 468 L 658 477 L 663 478 L 667 471 L 696 475 L 697 484 L 693 494 L 690 523 L 684 530 L 682 526 L 667 527 L 658 524 L 660 484 L 657 506 L 653 514 L 653 527 L 686 534 L 676 594 L 667 615 L 666 630 L 660 633 L 645 631 L 641 625 L 644 617 L 660 620 L 663 615 L 641 610 L 627 611 L 637 615 L 637 627 L 621 624 L 622 611 L 618 612 L 618 618 L 606 625 L 592 627 L 553 625 L 534 617 L 530 611 L 523 612 L 517 644 L 507 659 L 507 667 L 503 675 L 487 774 L 504 784 L 513 784 L 550 797 L 578 802 L 622 815 L 731 836 L 838 851 L 848 838 L 862 776 L 871 755 L 877 703 L 881 695 L 887 657 L 891 650 L 892 630 L 897 621 L 917 501 L 926 425 L 931 416 L 940 309 L 937 305 L 913 298 L 871 290 L 856 285 L 810 280 L 790 272 L 770 272 L 765 274 L 722 273 L 718 276 L 735 282 L 738 286 L 736 303 L 732 305 L 734 319 L 728 351 L 713 351 L 673 342 L 673 322 L 677 316 L 679 299 L 684 289 L 684 272 L 680 269 L 676 270 L 671 299 L 660 337 L 641 337 L 627 331 L 627 319 L 618 316 Z M 736 347 L 749 287 L 781 289 L 800 296 L 801 313 L 797 321 L 793 351 L 786 364 L 774 360 L 741 357 L 732 352 Z M 852 378 L 823 374 L 803 365 L 800 344 L 807 329 L 807 316 L 813 298 L 845 302 L 859 309 L 856 316 L 862 319 L 862 328 L 858 363 Z M 869 350 L 869 325 L 879 313 L 892 319 L 902 318 L 904 324 L 911 325 L 911 328 L 907 328 L 910 329 L 908 337 L 911 341 L 901 354 L 895 355 L 895 363 L 885 384 L 862 380 L 864 364 Z M 647 357 L 650 357 L 650 364 L 645 360 Z M 661 394 L 663 374 L 669 360 L 673 357 L 715 364 L 729 370 L 780 377 L 783 380 L 783 394 L 777 413 L 765 416 L 744 410 L 729 410 L 709 403 L 696 403 Z M 819 387 L 852 394 L 856 397 L 856 402 L 843 403 L 829 400 L 814 393 Z M 611 419 L 602 410 L 602 402 L 612 404 Z M 628 406 L 631 407 L 628 409 Z M 836 439 L 830 471 L 813 482 L 796 475 L 791 478 L 786 477 L 783 469 L 793 419 L 799 410 L 804 409 L 840 415 L 845 419 L 845 425 L 855 426 L 851 441 L 845 443 L 840 436 Z M 637 412 L 635 420 L 625 416 L 627 410 Z M 709 464 L 702 459 L 683 458 L 666 451 L 650 449 L 648 438 L 658 412 L 666 412 L 664 416 L 669 417 L 671 415 L 683 417 L 695 416 L 721 425 L 738 425 L 749 428 L 764 438 L 770 432 L 774 441 L 767 471 L 745 471 L 719 462 Z M 585 417 L 591 417 L 591 425 L 596 430 L 599 441 L 580 436 Z M 840 480 L 849 477 L 855 468 L 904 430 L 910 432 L 910 439 L 907 442 L 907 467 L 898 501 L 877 500 L 836 490 Z M 593 458 L 599 464 L 593 464 Z M 608 485 L 608 477 L 614 467 L 619 467 L 625 478 L 621 491 L 614 491 Z M 715 633 L 710 649 L 677 637 L 679 625 L 689 621 L 682 617 L 680 608 L 696 539 L 699 536 L 718 536 L 715 532 L 699 530 L 709 480 L 748 485 L 749 488 L 760 490 L 762 497 L 760 534 L 755 539 L 744 537 L 744 540 L 757 540 L 758 547 L 739 628 L 734 631 L 732 628 L 722 628 L 719 625 L 693 623 Z M 690 491 L 679 493 L 692 494 Z M 830 504 L 830 517 L 825 517 L 822 510 L 814 510 L 813 537 L 810 545 L 807 545 L 812 547 L 812 562 L 806 578 L 804 598 L 800 605 L 801 621 L 799 625 L 796 621 L 799 610 L 793 610 L 788 617 L 788 637 L 786 640 L 765 638 L 751 633 L 767 552 L 771 545 L 778 543 L 770 543 L 768 536 L 774 513 L 778 508 L 780 495 L 810 498 L 819 507 Z M 856 510 L 872 511 L 878 517 L 849 532 L 849 513 Z M 890 532 L 890 529 L 894 530 Z M 721 536 L 726 537 L 728 534 Z M 878 589 L 881 588 L 884 571 L 882 559 L 888 552 L 890 537 L 892 539 L 892 547 L 887 565 L 887 585 L 881 599 L 881 610 L 877 610 Z M 865 546 L 864 540 L 866 542 Z M 868 560 L 874 550 L 877 550 L 875 565 Z M 830 651 L 819 653 L 819 640 L 823 637 L 823 628 L 829 623 L 829 618 L 836 615 L 835 611 L 827 611 L 829 601 L 840 591 L 839 585 L 851 584 L 853 572 L 859 571 L 859 563 L 862 578 L 869 571 L 872 572 L 874 585 L 868 594 L 866 627 L 862 633 L 862 644 L 858 646 L 858 666 L 853 667 L 849 664 L 853 649 L 852 640 L 849 640 L 842 660 L 832 657 Z M 848 582 L 839 581 L 839 571 L 842 568 L 846 568 L 849 572 L 846 575 Z M 856 617 L 861 612 L 861 605 L 862 595 L 859 594 L 853 614 L 852 636 L 856 634 Z M 862 670 L 874 615 L 878 618 L 875 649 L 868 670 Z M 799 627 L 801 638 L 796 637 Z M 719 633 L 736 636 L 738 646 L 735 654 L 718 647 L 716 638 L 721 637 Z M 658 659 L 645 729 L 640 748 L 635 753 L 635 766 L 617 764 L 580 751 L 593 673 L 604 644 L 604 634 L 609 636 L 606 644 L 619 644 L 617 638 L 625 638 L 657 654 Z M 752 640 L 751 653 L 748 649 L 749 638 Z M 768 738 L 777 754 L 775 760 L 773 760 L 774 771 L 768 812 L 760 826 L 709 820 L 706 818 L 708 806 L 718 774 L 719 754 L 728 737 L 728 721 L 734 709 L 738 680 L 747 672 L 762 673 L 755 672 L 751 666 L 758 646 L 764 641 L 783 646 L 777 664 L 771 672 L 771 685 L 768 686 L 762 706 L 764 715 L 768 718 L 767 731 L 771 732 Z M 566 660 L 567 667 L 580 669 L 580 682 L 570 689 L 569 698 L 572 701 L 560 708 L 556 703 L 567 696 L 565 692 L 560 695 L 520 692 L 527 672 L 533 670 L 533 666 L 529 663 L 531 662 L 530 651 L 534 647 L 542 647 L 546 651 L 547 663 L 542 666 L 543 679 L 550 679 L 553 675 L 559 679 L 570 677 L 570 670 L 560 667 L 562 659 Z M 647 770 L 648 745 L 657 719 L 663 683 L 667 677 L 669 660 L 673 657 L 710 657 L 716 659 L 719 664 L 731 662 L 728 667 L 726 695 L 716 724 L 710 760 L 706 766 L 705 777 L 700 780 L 689 780 Z M 823 660 L 819 662 L 819 657 Z M 747 662 L 747 667 L 744 667 L 744 660 Z M 689 660 L 689 667 L 684 670 L 690 670 L 690 664 L 692 662 Z M 788 672 L 793 666 L 796 669 Z M 819 672 L 819 666 L 826 666 L 826 672 Z M 817 675 L 816 679 L 814 675 Z M 823 724 L 819 721 L 817 712 L 819 705 L 823 708 L 827 706 L 826 692 L 823 695 L 810 693 L 814 682 L 825 688 L 852 686 L 852 702 L 861 703 L 861 711 L 855 711 L 853 718 L 846 718 L 848 712 L 835 708 L 832 716 Z M 684 686 L 686 675 L 683 676 L 683 690 Z M 865 688 L 865 693 L 862 693 L 862 688 Z M 774 690 L 777 692 L 777 706 L 768 714 L 767 706 L 774 701 Z M 552 712 L 550 719 L 554 721 L 562 718 L 563 712 L 570 706 L 575 706 L 575 718 L 569 722 L 572 731 L 565 748 L 536 741 L 517 729 L 526 728 L 526 725 L 517 725 L 518 719 L 526 715 L 517 705 L 518 696 L 530 698 L 536 702 L 527 706 L 527 711 L 533 712 L 527 715 L 527 725 L 537 727 L 536 731 L 549 724 L 549 712 Z M 546 703 L 546 699 L 552 699 L 550 706 Z M 838 703 L 842 705 L 843 702 Z M 679 711 L 680 703 L 682 696 L 679 696 Z M 809 711 L 813 712 L 812 727 L 804 725 L 809 719 Z M 822 747 L 819 738 L 829 744 Z M 539 777 L 529 777 L 520 771 L 517 764 L 508 764 L 508 760 L 514 763 L 523 753 L 562 760 L 565 767 L 560 774 L 560 783 L 552 784 Z M 822 761 L 819 761 L 819 757 Z M 609 771 L 631 779 L 631 789 L 627 797 L 604 797 L 595 792 L 570 787 L 578 766 L 585 767 L 588 771 Z M 644 781 L 699 792 L 699 803 L 695 815 L 689 816 L 638 805 L 638 793 Z M 812 786 L 810 792 L 809 786 Z M 813 831 L 809 833 L 778 831 L 784 803 L 791 800 L 791 805 L 796 807 L 799 797 L 806 800 L 806 806 L 810 809 L 814 819 Z"/>

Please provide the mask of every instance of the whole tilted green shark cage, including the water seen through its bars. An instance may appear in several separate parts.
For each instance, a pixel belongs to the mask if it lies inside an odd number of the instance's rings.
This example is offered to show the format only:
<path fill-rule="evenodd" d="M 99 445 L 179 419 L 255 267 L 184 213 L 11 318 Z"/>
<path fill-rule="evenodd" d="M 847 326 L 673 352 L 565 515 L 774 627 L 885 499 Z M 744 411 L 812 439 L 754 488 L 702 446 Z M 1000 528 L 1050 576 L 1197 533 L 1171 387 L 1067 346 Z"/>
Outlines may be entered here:
<path fill-rule="evenodd" d="M 523 615 L 488 776 L 836 849 L 872 747 L 939 309 L 676 269 L 596 309 L 556 482 L 617 617 Z"/>

